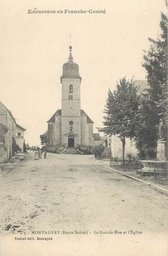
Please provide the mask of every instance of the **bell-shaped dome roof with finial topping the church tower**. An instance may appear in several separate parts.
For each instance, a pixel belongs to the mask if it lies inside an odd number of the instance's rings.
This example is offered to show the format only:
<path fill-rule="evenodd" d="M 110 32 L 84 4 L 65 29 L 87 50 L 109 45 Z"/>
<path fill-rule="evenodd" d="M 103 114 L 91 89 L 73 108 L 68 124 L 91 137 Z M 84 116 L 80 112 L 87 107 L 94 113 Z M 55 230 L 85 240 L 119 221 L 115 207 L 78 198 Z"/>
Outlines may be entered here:
<path fill-rule="evenodd" d="M 73 61 L 73 55 L 72 55 L 72 48 L 73 47 L 69 47 L 70 49 L 70 54 L 68 57 L 68 62 L 65 63 L 62 67 L 62 76 L 61 76 L 61 81 L 62 78 L 68 77 L 68 78 L 80 78 L 80 74 L 79 74 L 79 66 L 78 64 L 74 63 Z"/>

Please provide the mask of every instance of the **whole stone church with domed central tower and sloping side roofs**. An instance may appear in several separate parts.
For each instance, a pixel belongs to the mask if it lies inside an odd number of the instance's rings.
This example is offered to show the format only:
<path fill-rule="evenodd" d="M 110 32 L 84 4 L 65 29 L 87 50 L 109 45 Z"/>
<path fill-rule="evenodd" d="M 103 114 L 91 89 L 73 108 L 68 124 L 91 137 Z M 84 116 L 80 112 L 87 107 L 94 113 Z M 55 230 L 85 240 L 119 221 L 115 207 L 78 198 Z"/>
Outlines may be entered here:
<path fill-rule="evenodd" d="M 72 47 L 62 67 L 62 106 L 48 120 L 48 150 L 93 146 L 93 121 L 81 110 L 79 66 L 74 63 Z"/>

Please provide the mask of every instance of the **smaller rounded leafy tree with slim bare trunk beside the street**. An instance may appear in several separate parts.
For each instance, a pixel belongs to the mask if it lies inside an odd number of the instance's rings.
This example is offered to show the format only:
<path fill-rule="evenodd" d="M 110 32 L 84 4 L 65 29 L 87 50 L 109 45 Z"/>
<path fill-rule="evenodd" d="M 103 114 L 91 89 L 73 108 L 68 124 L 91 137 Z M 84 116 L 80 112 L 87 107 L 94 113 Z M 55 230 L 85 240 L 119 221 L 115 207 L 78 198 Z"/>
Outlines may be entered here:
<path fill-rule="evenodd" d="M 138 87 L 134 85 L 133 79 L 127 80 L 126 77 L 117 82 L 117 88 L 112 93 L 108 90 L 108 99 L 104 113 L 104 127 L 98 129 L 106 135 L 117 135 L 123 145 L 123 165 L 126 146 L 126 137 L 133 139 L 134 128 L 136 126 L 135 117 L 139 108 L 140 96 L 138 96 Z"/>

